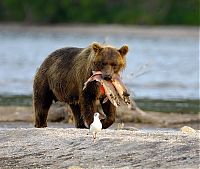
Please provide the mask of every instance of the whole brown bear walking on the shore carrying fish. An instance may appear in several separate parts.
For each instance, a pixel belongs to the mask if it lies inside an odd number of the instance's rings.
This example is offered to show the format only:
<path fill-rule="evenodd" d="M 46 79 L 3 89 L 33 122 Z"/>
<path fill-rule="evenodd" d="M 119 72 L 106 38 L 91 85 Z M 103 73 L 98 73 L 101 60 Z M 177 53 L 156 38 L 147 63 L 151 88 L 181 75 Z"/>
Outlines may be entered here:
<path fill-rule="evenodd" d="M 72 109 L 77 128 L 86 128 L 93 122 L 100 100 L 106 115 L 102 127 L 108 128 L 115 121 L 116 108 L 110 101 L 102 103 L 100 85 L 84 83 L 92 71 L 101 71 L 105 80 L 125 68 L 128 46 L 120 49 L 93 43 L 87 48 L 66 47 L 51 53 L 38 69 L 33 84 L 33 108 L 35 127 L 47 127 L 48 110 L 53 101 L 68 103 Z"/>

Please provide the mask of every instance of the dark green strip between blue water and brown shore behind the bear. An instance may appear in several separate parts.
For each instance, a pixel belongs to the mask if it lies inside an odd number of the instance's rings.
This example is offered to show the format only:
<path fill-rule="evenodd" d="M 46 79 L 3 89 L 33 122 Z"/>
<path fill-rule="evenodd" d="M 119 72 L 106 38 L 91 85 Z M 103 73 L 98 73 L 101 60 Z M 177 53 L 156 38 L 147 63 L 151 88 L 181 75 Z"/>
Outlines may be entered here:
<path fill-rule="evenodd" d="M 160 100 L 160 99 L 136 99 L 136 104 L 146 111 L 199 113 L 199 100 Z M 32 96 L 16 95 L 1 96 L 0 106 L 32 106 Z"/>

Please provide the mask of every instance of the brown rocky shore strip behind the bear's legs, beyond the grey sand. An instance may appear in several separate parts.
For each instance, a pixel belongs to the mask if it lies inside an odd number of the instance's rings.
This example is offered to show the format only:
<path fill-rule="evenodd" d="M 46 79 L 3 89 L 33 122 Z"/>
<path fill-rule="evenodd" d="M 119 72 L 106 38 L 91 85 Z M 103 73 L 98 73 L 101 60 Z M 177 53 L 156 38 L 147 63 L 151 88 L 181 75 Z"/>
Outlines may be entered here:
<path fill-rule="evenodd" d="M 34 114 L 32 112 L 32 107 L 0 106 L 0 126 L 1 122 L 33 123 L 33 121 Z M 73 125 L 71 109 L 67 105 L 55 104 L 51 106 L 48 114 L 48 122 L 63 122 Z M 121 122 L 165 128 L 181 128 L 184 125 L 187 125 L 199 130 L 200 114 L 145 112 L 137 106 L 133 110 L 129 110 L 127 107 L 122 106 L 117 109 L 116 116 L 116 123 Z"/>

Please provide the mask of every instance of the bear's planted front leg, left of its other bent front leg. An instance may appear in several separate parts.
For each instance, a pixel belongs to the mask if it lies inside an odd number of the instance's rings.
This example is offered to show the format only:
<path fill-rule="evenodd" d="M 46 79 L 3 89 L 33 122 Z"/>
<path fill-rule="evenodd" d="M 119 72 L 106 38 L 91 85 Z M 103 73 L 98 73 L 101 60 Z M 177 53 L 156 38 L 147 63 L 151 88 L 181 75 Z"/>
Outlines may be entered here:
<path fill-rule="evenodd" d="M 94 113 L 97 111 L 96 100 L 99 99 L 98 95 L 99 84 L 96 81 L 92 81 L 80 96 L 81 115 L 87 128 L 94 120 Z"/>

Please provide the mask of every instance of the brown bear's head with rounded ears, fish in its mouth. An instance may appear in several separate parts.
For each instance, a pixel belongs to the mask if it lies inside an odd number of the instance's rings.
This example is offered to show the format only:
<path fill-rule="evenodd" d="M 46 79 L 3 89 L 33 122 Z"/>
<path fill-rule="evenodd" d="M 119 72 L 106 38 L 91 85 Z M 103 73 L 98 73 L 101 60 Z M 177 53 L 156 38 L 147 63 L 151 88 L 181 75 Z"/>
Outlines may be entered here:
<path fill-rule="evenodd" d="M 111 46 L 101 46 L 98 43 L 92 44 L 95 53 L 94 69 L 101 71 L 105 80 L 112 79 L 113 74 L 118 74 L 125 68 L 128 46 L 124 45 L 120 49 Z"/>

